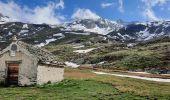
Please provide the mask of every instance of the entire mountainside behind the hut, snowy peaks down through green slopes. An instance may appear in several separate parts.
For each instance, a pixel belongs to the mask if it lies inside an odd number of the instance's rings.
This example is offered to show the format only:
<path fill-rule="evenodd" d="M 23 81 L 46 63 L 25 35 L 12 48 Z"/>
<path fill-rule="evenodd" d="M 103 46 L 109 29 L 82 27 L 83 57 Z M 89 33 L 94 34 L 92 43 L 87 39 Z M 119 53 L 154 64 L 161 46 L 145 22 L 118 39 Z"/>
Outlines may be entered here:
<path fill-rule="evenodd" d="M 100 18 L 47 25 L 12 22 L 4 20 L 9 18 L 3 15 L 0 18 L 1 49 L 17 35 L 19 40 L 44 47 L 76 65 L 123 70 L 169 69 L 170 21 L 125 23 Z"/>

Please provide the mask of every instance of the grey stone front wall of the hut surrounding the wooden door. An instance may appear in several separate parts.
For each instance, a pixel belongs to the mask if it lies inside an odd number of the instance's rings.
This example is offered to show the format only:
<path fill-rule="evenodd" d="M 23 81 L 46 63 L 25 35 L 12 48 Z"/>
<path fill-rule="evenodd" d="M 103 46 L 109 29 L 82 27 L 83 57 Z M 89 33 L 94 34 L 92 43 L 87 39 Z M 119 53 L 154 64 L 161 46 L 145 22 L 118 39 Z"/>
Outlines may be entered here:
<path fill-rule="evenodd" d="M 15 56 L 10 56 L 10 52 L 6 52 L 0 57 L 0 81 L 7 78 L 6 61 L 21 61 L 19 64 L 18 85 L 36 84 L 37 80 L 37 61 L 33 56 L 28 56 L 22 52 L 16 52 Z"/>

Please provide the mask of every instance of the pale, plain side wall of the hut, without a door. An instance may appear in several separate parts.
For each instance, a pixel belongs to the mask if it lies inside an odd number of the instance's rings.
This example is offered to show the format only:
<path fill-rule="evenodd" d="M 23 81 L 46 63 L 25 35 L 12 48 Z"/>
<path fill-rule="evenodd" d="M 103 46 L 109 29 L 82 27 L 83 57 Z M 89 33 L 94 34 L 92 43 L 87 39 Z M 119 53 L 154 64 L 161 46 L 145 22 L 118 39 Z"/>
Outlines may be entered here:
<path fill-rule="evenodd" d="M 47 82 L 58 82 L 63 80 L 64 68 L 52 67 L 48 65 L 39 65 L 37 73 L 37 84 Z"/>

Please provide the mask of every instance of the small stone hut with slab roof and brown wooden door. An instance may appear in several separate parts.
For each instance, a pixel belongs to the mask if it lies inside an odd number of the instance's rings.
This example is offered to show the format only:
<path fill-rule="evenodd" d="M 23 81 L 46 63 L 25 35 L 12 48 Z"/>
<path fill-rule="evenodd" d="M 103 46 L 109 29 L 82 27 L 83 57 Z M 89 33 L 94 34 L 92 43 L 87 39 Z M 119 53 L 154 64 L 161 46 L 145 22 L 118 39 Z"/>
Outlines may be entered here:
<path fill-rule="evenodd" d="M 18 41 L 0 52 L 0 82 L 28 86 L 63 80 L 64 63 L 49 51 Z"/>

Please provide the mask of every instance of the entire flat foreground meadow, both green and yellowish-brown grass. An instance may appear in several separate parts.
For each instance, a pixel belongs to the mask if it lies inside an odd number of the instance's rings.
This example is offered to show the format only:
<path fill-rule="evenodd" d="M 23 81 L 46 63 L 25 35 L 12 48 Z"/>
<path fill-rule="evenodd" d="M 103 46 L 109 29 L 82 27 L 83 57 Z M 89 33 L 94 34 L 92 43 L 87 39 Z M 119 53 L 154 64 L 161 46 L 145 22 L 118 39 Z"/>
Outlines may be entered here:
<path fill-rule="evenodd" d="M 170 100 L 170 84 L 65 69 L 65 79 L 35 87 L 0 87 L 0 100 Z"/>

